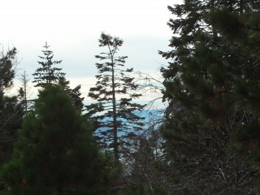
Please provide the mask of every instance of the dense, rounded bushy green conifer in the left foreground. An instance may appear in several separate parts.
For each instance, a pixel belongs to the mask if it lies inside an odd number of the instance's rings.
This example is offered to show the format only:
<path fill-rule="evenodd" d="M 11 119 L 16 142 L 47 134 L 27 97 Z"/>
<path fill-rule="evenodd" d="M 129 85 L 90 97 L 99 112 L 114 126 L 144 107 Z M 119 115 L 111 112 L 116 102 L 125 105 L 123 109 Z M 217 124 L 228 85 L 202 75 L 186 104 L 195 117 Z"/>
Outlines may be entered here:
<path fill-rule="evenodd" d="M 112 162 L 98 150 L 89 118 L 60 87 L 45 85 L 26 115 L 12 160 L 0 172 L 10 194 L 107 194 Z"/>

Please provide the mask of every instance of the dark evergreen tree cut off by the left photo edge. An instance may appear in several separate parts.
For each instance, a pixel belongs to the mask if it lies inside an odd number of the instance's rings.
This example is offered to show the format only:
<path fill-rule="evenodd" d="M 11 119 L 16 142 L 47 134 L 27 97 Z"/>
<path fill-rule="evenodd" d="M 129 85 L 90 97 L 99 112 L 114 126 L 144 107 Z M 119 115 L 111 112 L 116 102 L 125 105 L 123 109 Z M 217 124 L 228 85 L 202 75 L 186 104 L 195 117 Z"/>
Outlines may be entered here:
<path fill-rule="evenodd" d="M 0 54 L 0 164 L 10 158 L 23 116 L 23 104 L 19 99 L 21 94 L 6 94 L 13 85 L 15 57 L 16 48 Z"/>

